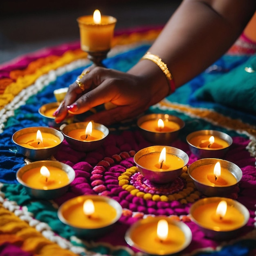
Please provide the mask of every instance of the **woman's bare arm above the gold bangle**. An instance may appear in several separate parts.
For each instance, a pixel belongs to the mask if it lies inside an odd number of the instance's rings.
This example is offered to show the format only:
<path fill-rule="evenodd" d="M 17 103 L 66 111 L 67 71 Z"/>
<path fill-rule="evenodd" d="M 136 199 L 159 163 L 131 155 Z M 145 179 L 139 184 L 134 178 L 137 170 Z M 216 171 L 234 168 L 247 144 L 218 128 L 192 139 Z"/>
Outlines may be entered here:
<path fill-rule="evenodd" d="M 179 87 L 229 49 L 255 8 L 255 0 L 185 0 L 149 51 L 162 58 Z M 146 76 L 149 64 L 143 62 L 129 72 L 136 74 L 139 67 Z"/>

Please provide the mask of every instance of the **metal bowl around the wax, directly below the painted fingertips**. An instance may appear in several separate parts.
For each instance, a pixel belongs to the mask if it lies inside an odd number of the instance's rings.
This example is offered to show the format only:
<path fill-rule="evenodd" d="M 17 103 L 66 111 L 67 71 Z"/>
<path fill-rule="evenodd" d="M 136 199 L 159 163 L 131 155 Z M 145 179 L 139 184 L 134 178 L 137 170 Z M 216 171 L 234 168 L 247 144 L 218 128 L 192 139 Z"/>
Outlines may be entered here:
<path fill-rule="evenodd" d="M 73 149 L 75 149 L 77 151 L 92 151 L 96 148 L 99 148 L 99 146 L 102 145 L 103 141 L 106 139 L 106 137 L 109 134 L 109 130 L 106 126 L 104 126 L 103 124 L 94 123 L 93 128 L 103 132 L 104 136 L 102 139 L 98 139 L 95 141 L 82 141 L 79 139 L 74 139 L 68 135 L 69 132 L 72 130 L 76 130 L 76 129 L 84 129 L 85 130 L 88 123 L 89 122 L 79 122 L 79 123 L 74 123 L 74 124 L 68 124 L 68 125 L 64 126 L 62 129 L 62 133 L 63 133 L 67 143 L 70 144 L 70 147 L 72 147 Z"/>

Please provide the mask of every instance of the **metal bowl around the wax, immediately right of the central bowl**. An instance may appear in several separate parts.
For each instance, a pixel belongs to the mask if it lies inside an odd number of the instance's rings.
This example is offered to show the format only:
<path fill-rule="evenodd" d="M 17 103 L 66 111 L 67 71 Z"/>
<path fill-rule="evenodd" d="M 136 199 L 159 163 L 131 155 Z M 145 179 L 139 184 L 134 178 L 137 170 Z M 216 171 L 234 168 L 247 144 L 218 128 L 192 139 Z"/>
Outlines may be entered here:
<path fill-rule="evenodd" d="M 234 175 L 234 177 L 236 178 L 235 184 L 231 186 L 216 184 L 210 185 L 199 182 L 193 177 L 193 171 L 196 168 L 198 168 L 198 166 L 216 164 L 217 162 L 220 162 L 222 168 L 229 170 L 230 173 Z M 196 188 L 207 196 L 223 196 L 232 193 L 234 191 L 234 188 L 237 186 L 238 182 L 240 182 L 243 176 L 242 170 L 236 164 L 217 158 L 203 158 L 193 162 L 192 164 L 190 164 L 188 168 L 188 174 L 193 180 Z"/>

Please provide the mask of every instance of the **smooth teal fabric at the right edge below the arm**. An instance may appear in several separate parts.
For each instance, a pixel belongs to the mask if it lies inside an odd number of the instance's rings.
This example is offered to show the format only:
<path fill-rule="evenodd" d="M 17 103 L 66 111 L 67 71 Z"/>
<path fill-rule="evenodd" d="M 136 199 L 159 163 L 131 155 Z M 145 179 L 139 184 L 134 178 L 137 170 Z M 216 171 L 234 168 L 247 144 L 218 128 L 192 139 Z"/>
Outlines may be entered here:
<path fill-rule="evenodd" d="M 245 71 L 251 67 L 255 72 Z M 198 100 L 214 101 L 225 106 L 256 114 L 256 55 L 195 91 Z"/>

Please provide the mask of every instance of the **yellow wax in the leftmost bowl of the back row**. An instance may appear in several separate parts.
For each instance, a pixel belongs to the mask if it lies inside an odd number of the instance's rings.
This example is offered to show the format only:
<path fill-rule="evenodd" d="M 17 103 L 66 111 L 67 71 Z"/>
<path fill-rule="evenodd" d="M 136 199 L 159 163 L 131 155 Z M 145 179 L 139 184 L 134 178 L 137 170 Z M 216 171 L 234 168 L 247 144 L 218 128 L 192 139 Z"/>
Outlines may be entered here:
<path fill-rule="evenodd" d="M 61 140 L 52 133 L 41 132 L 43 143 L 36 140 L 36 132 L 30 132 L 23 135 L 20 135 L 17 138 L 17 144 L 25 148 L 31 149 L 42 149 L 42 148 L 52 148 L 61 143 Z"/>

